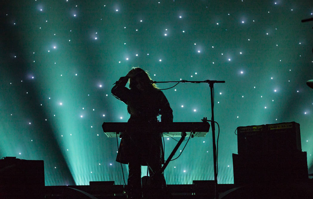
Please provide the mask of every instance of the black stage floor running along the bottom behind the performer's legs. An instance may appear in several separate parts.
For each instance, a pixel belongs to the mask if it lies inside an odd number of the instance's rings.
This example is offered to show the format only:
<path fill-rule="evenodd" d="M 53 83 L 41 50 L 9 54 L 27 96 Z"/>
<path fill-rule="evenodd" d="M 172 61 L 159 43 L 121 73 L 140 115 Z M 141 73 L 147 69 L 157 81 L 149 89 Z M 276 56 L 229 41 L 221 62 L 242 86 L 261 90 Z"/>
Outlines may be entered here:
<path fill-rule="evenodd" d="M 210 199 L 214 198 L 213 181 L 202 181 L 198 184 L 167 185 L 170 199 Z M 51 199 L 126 199 L 124 185 L 108 185 L 98 182 L 85 186 L 45 186 L 45 187 L 2 187 L 0 198 L 51 198 Z M 153 187 L 143 186 L 143 196 L 148 196 Z M 313 198 L 313 180 L 307 182 L 266 182 L 258 184 L 218 184 L 218 198 Z M 165 198 L 165 197 L 164 197 Z M 162 199 L 158 197 L 158 199 Z"/>

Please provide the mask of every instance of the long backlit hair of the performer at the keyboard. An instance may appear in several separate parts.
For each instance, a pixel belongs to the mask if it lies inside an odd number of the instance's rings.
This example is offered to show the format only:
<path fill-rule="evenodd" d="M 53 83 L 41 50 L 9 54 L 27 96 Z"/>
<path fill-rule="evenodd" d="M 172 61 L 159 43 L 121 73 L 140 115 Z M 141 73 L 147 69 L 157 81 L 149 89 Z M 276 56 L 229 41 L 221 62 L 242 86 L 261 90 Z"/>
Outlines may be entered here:
<path fill-rule="evenodd" d="M 136 80 L 141 80 L 141 82 L 144 84 L 144 86 L 147 89 L 158 89 L 156 84 L 151 84 L 151 77 L 149 73 L 139 67 L 132 67 L 131 70 L 133 70 L 135 76 L 129 78 L 129 88 L 133 89 L 136 87 L 136 85 L 133 82 L 136 82 Z"/>

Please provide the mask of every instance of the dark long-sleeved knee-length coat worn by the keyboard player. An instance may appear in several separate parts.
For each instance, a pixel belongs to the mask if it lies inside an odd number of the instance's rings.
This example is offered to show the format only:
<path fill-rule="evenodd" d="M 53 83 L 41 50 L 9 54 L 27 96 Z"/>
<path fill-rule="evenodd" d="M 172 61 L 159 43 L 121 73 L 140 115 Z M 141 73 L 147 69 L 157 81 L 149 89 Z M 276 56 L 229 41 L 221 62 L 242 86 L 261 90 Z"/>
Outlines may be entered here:
<path fill-rule="evenodd" d="M 161 90 L 128 89 L 125 87 L 127 81 L 128 78 L 121 77 L 115 83 L 111 93 L 127 104 L 127 109 L 131 114 L 128 124 L 136 126 L 137 130 L 124 133 L 116 161 L 128 164 L 131 158 L 140 156 L 141 165 L 145 166 L 147 163 L 156 161 L 164 164 L 162 133 L 154 132 L 153 129 L 143 132 L 140 126 L 157 122 L 159 114 L 162 122 L 172 122 L 173 111 L 170 104 Z"/>

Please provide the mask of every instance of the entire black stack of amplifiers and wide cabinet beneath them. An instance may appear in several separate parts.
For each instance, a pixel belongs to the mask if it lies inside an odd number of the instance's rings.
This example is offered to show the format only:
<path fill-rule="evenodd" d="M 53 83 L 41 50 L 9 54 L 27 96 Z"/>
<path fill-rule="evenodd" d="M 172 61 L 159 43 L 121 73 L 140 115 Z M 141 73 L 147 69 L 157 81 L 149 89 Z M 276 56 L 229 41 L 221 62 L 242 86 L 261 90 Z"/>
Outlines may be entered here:
<path fill-rule="evenodd" d="M 306 152 L 301 151 L 296 122 L 237 128 L 238 154 L 233 154 L 234 183 L 308 180 Z"/>

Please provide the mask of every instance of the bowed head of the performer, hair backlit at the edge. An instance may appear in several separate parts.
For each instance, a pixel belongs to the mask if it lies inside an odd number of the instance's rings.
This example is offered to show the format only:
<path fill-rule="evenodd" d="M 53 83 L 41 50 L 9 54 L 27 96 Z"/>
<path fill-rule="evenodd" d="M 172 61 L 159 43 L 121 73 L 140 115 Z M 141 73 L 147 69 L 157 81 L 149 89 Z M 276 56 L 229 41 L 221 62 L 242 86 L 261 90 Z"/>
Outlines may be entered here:
<path fill-rule="evenodd" d="M 151 84 L 151 78 L 145 70 L 139 67 L 133 67 L 131 70 L 133 76 L 129 78 L 130 89 L 148 90 L 157 88 L 155 84 Z"/>

